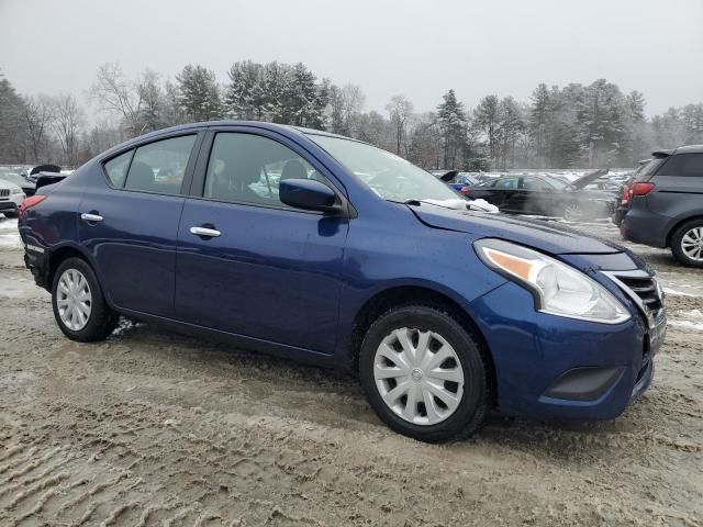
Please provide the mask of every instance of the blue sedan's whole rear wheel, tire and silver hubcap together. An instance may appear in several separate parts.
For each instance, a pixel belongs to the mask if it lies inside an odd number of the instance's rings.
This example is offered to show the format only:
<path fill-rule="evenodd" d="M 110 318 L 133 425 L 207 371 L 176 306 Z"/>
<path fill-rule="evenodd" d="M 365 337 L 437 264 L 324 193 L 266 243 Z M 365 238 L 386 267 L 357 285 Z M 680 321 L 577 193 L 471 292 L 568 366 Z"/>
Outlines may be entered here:
<path fill-rule="evenodd" d="M 96 273 L 80 258 L 68 258 L 58 266 L 52 304 L 58 327 L 72 340 L 102 340 L 118 324 L 118 315 L 105 303 Z"/>

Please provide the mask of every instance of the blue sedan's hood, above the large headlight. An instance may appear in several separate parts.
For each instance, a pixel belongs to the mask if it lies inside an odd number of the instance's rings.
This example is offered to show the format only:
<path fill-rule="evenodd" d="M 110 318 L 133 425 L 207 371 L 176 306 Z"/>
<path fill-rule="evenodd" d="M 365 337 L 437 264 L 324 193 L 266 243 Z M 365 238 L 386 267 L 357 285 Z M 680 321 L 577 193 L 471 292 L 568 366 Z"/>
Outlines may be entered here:
<path fill-rule="evenodd" d="M 460 211 L 428 203 L 408 206 L 429 227 L 458 231 L 476 238 L 502 238 L 553 255 L 613 255 L 625 251 L 611 242 L 584 236 L 578 231 L 550 222 Z"/>

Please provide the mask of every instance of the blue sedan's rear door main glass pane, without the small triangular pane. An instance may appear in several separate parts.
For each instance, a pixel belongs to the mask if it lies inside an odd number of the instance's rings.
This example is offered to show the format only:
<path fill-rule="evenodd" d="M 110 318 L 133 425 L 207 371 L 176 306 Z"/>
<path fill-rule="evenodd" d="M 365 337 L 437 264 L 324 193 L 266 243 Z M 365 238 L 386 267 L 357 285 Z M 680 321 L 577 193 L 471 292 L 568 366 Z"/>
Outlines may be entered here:
<path fill-rule="evenodd" d="M 194 135 L 185 135 L 141 146 L 130 165 L 124 188 L 179 194 L 194 143 Z"/>

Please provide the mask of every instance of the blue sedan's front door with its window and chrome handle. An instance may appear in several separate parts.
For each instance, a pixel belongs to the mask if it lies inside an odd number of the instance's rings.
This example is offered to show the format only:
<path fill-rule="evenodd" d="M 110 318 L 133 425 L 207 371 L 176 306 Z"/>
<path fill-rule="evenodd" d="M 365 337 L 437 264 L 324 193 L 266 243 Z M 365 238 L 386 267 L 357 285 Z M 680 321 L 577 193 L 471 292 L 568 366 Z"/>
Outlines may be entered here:
<path fill-rule="evenodd" d="M 220 130 L 202 149 L 210 157 L 199 160 L 178 229 L 177 317 L 332 354 L 349 222 L 284 205 L 278 182 L 309 178 L 339 189 L 272 132 Z"/>

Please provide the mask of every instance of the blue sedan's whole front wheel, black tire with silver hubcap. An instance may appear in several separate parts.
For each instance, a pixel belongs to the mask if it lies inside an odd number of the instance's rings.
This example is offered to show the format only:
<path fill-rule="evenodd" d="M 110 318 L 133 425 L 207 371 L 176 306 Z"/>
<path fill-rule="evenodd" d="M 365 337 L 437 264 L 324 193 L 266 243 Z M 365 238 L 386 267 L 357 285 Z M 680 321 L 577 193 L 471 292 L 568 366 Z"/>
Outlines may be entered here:
<path fill-rule="evenodd" d="M 361 383 L 378 416 L 393 430 L 427 442 L 467 437 L 481 425 L 486 371 L 472 335 L 429 305 L 381 315 L 359 356 Z"/>

